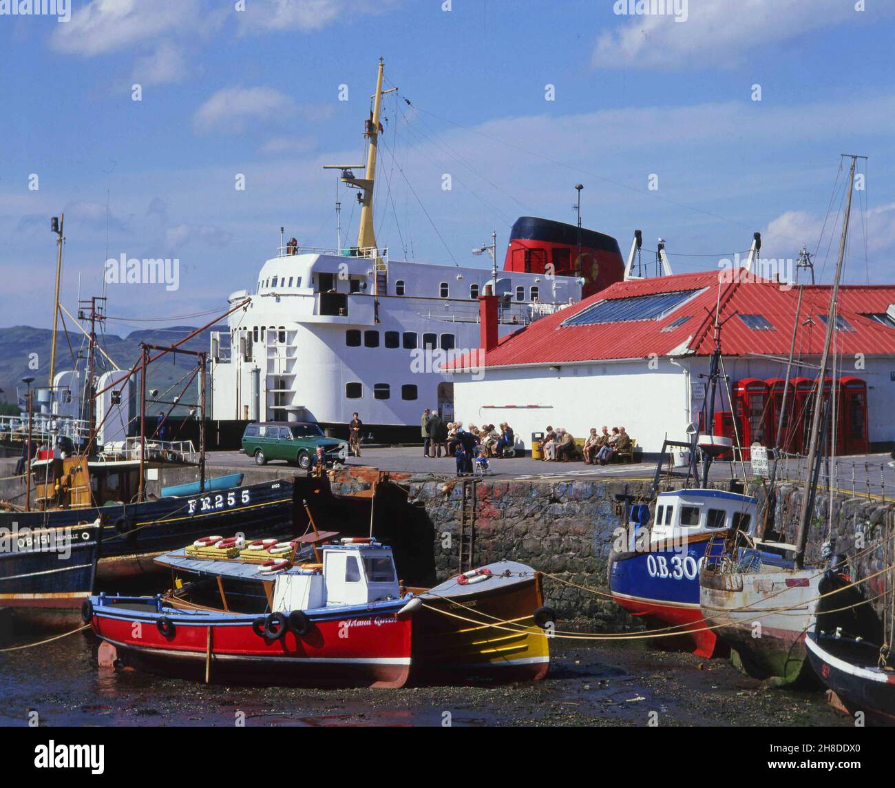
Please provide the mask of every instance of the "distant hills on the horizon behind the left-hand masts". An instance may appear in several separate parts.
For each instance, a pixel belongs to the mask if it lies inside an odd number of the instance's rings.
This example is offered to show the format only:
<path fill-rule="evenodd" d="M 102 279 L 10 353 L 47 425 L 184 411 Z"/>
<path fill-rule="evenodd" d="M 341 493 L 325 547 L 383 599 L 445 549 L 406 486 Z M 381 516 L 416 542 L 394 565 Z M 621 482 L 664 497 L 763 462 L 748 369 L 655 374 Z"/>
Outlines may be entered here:
<path fill-rule="evenodd" d="M 191 326 L 169 326 L 165 329 L 136 330 L 128 334 L 126 338 L 114 334 L 100 334 L 98 345 L 106 351 L 123 370 L 128 370 L 140 358 L 140 343 L 147 342 L 152 345 L 171 345 L 190 334 L 195 329 Z M 226 330 L 226 326 L 217 325 L 205 330 L 196 337 L 190 339 L 182 347 L 189 350 L 208 350 L 209 334 L 213 330 Z M 15 403 L 16 387 L 24 396 L 25 386 L 21 379 L 34 378 L 34 386 L 47 386 L 50 368 L 50 347 L 53 341 L 53 332 L 48 329 L 34 329 L 30 326 L 13 326 L 8 329 L 0 329 L 0 402 Z M 71 342 L 71 347 L 69 345 Z M 61 329 L 56 337 L 56 362 L 57 373 L 74 368 L 72 354 L 77 356 L 81 350 L 87 355 L 87 338 L 80 331 L 71 330 L 66 338 Z M 33 356 L 32 354 L 37 354 Z M 32 361 L 33 359 L 33 361 Z M 36 369 L 32 368 L 36 362 Z M 78 363 L 83 369 L 86 360 Z M 179 380 L 193 366 L 193 360 L 189 356 L 168 354 L 160 358 L 149 367 L 149 388 L 166 390 L 175 381 Z M 113 367 L 108 364 L 101 354 L 97 354 L 98 373 L 107 372 Z M 177 390 L 173 390 L 170 396 L 180 393 L 181 384 Z M 185 398 L 195 401 L 195 384 L 191 386 Z M 175 411 L 176 413 L 176 411 Z"/>

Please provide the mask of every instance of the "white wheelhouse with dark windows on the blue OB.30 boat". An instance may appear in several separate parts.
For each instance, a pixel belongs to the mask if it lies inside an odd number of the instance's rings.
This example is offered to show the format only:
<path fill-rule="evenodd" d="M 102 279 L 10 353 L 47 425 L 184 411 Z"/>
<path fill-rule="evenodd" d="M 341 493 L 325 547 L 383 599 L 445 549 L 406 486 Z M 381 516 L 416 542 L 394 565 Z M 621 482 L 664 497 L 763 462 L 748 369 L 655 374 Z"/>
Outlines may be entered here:
<path fill-rule="evenodd" d="M 650 529 L 651 543 L 719 533 L 731 527 L 751 534 L 757 501 L 723 490 L 660 492 Z"/>

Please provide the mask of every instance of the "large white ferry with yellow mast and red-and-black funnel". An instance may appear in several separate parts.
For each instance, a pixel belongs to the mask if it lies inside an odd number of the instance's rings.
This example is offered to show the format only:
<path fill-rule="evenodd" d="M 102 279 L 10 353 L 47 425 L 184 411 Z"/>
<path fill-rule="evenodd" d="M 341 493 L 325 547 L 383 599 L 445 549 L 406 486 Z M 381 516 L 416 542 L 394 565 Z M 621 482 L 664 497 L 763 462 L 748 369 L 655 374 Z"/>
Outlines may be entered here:
<path fill-rule="evenodd" d="M 623 276 L 615 238 L 533 217 L 514 224 L 500 273 L 496 243 L 476 250 L 490 252 L 490 270 L 390 259 L 373 232 L 382 75 L 380 60 L 366 164 L 333 167 L 358 190 L 357 244 L 302 248 L 284 244 L 281 232 L 252 290 L 229 296 L 231 307 L 245 305 L 211 335 L 211 415 L 219 423 L 311 420 L 346 436 L 356 411 L 367 440 L 419 440 L 425 408 L 453 415 L 453 384 L 439 367 L 479 346 L 486 285 L 496 279 L 505 336 Z"/>

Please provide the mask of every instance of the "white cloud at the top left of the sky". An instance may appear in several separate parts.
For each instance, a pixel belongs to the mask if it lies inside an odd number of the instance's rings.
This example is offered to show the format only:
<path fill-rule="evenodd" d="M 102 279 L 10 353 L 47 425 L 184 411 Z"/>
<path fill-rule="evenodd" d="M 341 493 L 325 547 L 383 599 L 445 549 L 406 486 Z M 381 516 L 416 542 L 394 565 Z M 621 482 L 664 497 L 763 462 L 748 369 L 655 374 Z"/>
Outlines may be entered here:
<path fill-rule="evenodd" d="M 200 0 L 92 0 L 58 25 L 50 39 L 59 52 L 105 55 L 160 35 L 200 28 Z"/>

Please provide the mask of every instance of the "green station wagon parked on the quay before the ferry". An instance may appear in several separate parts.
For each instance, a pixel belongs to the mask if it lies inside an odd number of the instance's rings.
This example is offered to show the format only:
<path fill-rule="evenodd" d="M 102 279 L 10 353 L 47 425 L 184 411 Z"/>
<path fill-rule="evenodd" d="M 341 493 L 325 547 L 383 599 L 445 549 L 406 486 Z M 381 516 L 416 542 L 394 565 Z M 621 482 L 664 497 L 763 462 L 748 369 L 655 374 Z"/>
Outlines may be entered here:
<path fill-rule="evenodd" d="M 323 447 L 328 466 L 344 463 L 348 456 L 345 441 L 328 438 L 313 422 L 260 422 L 248 424 L 243 433 L 243 451 L 258 465 L 266 465 L 268 459 L 285 459 L 307 470 L 318 446 Z"/>

